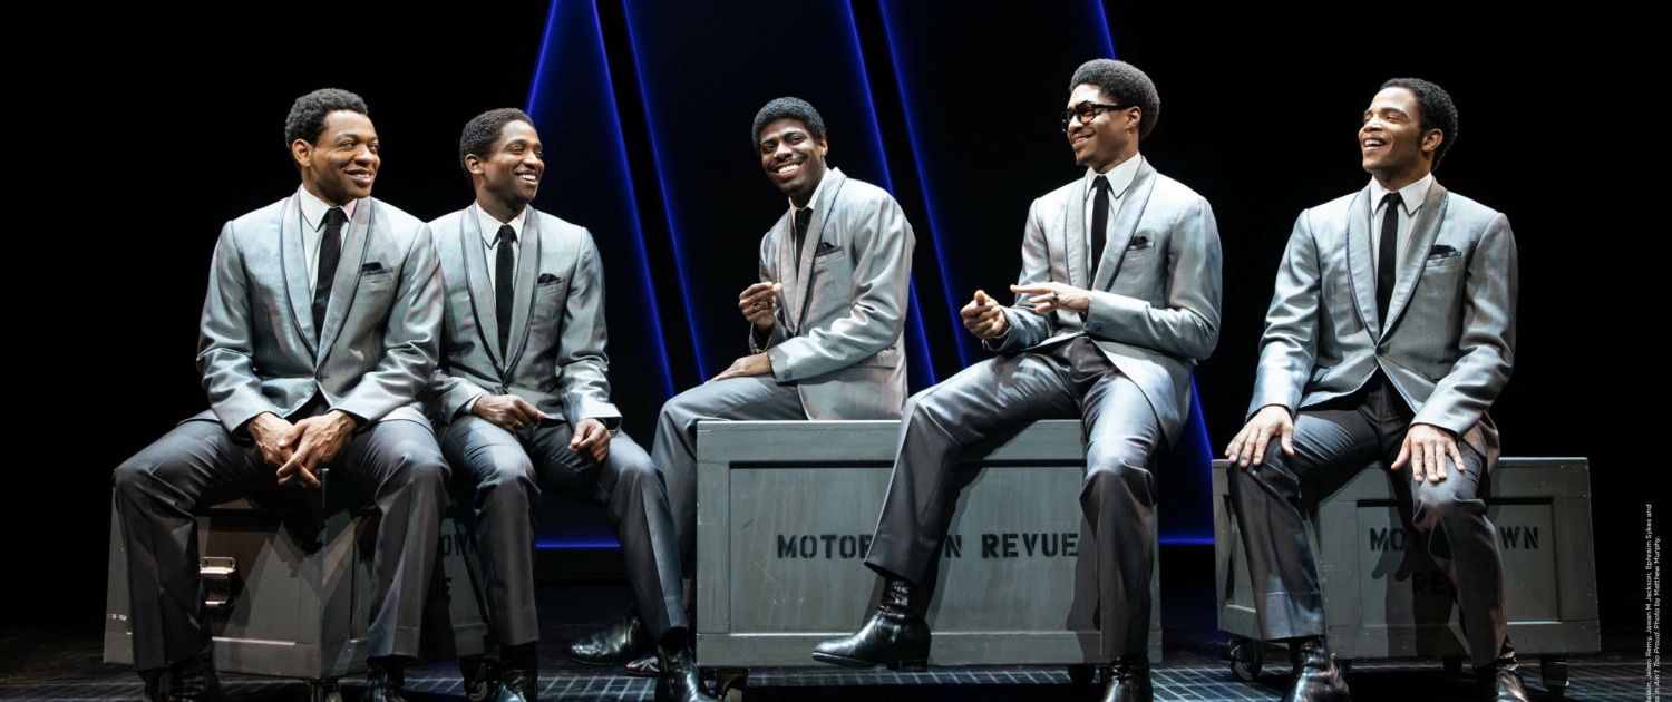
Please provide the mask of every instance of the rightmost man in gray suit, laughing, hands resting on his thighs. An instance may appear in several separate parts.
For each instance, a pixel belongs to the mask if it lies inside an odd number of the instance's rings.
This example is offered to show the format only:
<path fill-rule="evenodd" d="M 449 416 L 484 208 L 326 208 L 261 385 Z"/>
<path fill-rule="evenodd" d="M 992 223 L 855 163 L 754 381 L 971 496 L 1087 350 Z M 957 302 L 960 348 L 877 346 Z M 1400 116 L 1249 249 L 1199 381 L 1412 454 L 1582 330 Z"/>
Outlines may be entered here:
<path fill-rule="evenodd" d="M 1226 456 L 1261 632 L 1294 660 L 1284 700 L 1348 699 L 1301 486 L 1378 460 L 1409 466 L 1396 495 L 1455 585 L 1481 697 L 1527 699 L 1483 501 L 1498 458 L 1486 410 L 1515 358 L 1515 237 L 1435 181 L 1456 137 L 1440 85 L 1383 84 L 1359 129 L 1369 186 L 1301 212 L 1277 269 L 1249 420 Z"/>

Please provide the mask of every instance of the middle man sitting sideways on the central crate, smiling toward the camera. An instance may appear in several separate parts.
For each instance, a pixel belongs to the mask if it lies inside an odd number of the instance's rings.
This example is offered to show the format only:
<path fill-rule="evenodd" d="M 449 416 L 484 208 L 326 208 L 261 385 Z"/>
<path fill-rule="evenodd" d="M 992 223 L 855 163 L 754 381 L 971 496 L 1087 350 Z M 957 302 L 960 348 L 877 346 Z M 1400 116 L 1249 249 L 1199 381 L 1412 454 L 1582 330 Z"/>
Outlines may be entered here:
<path fill-rule="evenodd" d="M 906 398 L 900 344 L 911 282 L 911 224 L 883 189 L 826 169 L 824 119 L 781 97 L 754 117 L 766 177 L 789 197 L 761 239 L 761 282 L 737 296 L 749 356 L 662 406 L 652 460 L 667 480 L 686 575 L 697 552 L 697 423 L 704 420 L 895 420 Z M 630 659 L 617 622 L 572 650 Z"/>

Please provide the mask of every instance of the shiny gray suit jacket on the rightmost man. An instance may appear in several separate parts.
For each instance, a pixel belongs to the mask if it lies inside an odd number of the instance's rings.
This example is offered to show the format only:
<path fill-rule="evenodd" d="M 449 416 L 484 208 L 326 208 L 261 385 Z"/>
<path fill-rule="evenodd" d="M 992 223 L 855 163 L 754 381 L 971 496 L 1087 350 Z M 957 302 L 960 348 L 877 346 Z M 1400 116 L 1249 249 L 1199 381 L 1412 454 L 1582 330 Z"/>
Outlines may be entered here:
<path fill-rule="evenodd" d="M 1277 269 L 1249 415 L 1351 394 L 1379 368 L 1413 421 L 1495 458 L 1486 408 L 1515 361 L 1515 298 L 1510 221 L 1435 181 L 1399 257 L 1393 324 L 1381 331 L 1369 186 L 1308 209 Z"/>

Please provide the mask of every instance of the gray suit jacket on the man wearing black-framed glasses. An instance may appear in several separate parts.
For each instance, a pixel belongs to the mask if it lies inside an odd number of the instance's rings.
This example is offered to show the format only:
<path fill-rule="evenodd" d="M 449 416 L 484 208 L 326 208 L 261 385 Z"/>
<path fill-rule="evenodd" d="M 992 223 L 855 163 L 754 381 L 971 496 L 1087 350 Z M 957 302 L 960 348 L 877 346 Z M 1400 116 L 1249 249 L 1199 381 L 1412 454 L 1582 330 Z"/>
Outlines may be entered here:
<path fill-rule="evenodd" d="M 1027 294 L 1005 309 L 1010 331 L 990 343 L 1015 353 L 1087 336 L 1137 383 L 1169 441 L 1190 416 L 1190 371 L 1219 343 L 1219 226 L 1202 196 L 1139 164 L 1109 224 L 1097 277 L 1087 269 L 1087 181 L 1033 201 L 1022 242 L 1020 284 L 1067 282 L 1092 291 L 1083 316 L 1033 311 Z"/>

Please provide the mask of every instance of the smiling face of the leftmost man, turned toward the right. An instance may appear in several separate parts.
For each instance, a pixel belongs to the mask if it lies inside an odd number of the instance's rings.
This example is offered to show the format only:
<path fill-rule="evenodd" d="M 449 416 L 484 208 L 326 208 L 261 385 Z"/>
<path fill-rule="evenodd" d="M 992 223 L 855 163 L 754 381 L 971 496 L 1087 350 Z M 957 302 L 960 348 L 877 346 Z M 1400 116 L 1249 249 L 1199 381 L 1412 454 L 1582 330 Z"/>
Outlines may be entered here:
<path fill-rule="evenodd" d="M 326 204 L 344 206 L 370 197 L 378 177 L 378 130 L 371 119 L 353 110 L 324 115 L 324 129 L 309 144 L 291 142 L 291 157 L 303 174 L 303 187 Z"/>

